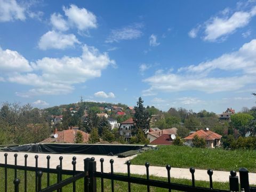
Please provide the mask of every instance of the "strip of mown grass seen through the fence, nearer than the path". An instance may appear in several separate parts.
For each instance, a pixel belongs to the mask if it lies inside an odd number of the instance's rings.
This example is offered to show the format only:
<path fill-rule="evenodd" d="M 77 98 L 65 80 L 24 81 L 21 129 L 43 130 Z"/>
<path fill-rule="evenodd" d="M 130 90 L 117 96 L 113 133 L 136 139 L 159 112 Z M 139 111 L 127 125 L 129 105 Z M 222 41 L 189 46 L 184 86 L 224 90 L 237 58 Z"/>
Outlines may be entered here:
<path fill-rule="evenodd" d="M 19 190 L 24 191 L 24 180 L 23 180 L 23 175 L 24 171 L 18 170 L 17 172 L 17 177 L 21 180 L 20 185 L 19 185 Z M 14 185 L 13 185 L 13 180 L 14 180 L 14 170 L 9 169 L 8 170 L 8 180 L 7 180 L 7 191 L 13 191 L 14 190 Z M 131 175 L 132 177 L 140 177 L 140 178 L 146 178 L 146 175 Z M 70 177 L 69 175 L 62 175 L 62 179 L 67 179 Z M 161 178 L 161 177 L 155 177 L 150 175 L 150 179 L 154 180 L 160 180 L 160 181 L 167 181 L 167 178 Z M 57 182 L 57 175 L 56 174 L 51 174 L 51 179 L 50 183 L 51 185 Z M 191 185 L 191 181 L 187 179 L 174 179 L 171 178 L 171 182 L 173 183 L 180 183 L 183 185 Z M 115 191 L 117 192 L 123 192 L 123 191 L 128 191 L 128 184 L 126 182 L 122 181 L 114 181 L 115 184 Z M 206 187 L 209 188 L 209 182 L 207 181 L 196 181 L 195 185 L 198 187 Z M 4 191 L 4 169 L 0 168 L 0 191 Z M 35 172 L 27 172 L 27 186 L 28 190 L 27 191 L 35 191 Z M 80 179 L 76 181 L 76 191 L 82 192 L 84 191 L 83 188 L 83 179 Z M 46 173 L 43 174 L 42 177 L 42 188 L 46 187 Z M 213 182 L 213 188 L 215 189 L 225 189 L 229 190 L 229 183 L 228 182 Z M 111 181 L 108 179 L 104 180 L 104 190 L 106 192 L 111 191 Z M 142 185 L 137 185 L 137 184 L 131 184 L 131 190 L 132 191 L 147 191 L 147 186 L 142 186 Z M 62 188 L 63 192 L 68 192 L 68 191 L 73 191 L 73 185 L 70 184 L 64 188 Z M 101 191 L 101 181 L 98 178 L 97 179 L 97 191 Z M 161 189 L 161 188 L 155 188 L 155 187 L 150 187 L 150 191 L 157 191 L 157 192 L 164 192 L 168 191 L 167 189 Z M 175 190 L 172 190 L 175 191 Z"/>

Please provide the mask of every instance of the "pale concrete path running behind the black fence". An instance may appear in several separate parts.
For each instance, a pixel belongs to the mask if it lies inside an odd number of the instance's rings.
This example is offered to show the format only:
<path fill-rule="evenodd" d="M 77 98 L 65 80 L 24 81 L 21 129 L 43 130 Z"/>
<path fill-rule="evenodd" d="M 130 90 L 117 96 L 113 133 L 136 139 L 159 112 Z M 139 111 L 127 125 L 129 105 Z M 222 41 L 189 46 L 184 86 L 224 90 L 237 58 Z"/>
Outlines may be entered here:
<path fill-rule="evenodd" d="M 0 163 L 4 163 L 4 154 L 5 152 L 0 151 Z M 7 163 L 14 164 L 14 154 L 15 152 L 7 152 Z M 47 159 L 46 156 L 50 155 L 50 167 L 56 168 L 59 165 L 59 157 L 62 156 L 62 167 L 65 170 L 72 170 L 73 165 L 71 162 L 73 161 L 73 157 L 76 157 L 76 169 L 83 171 L 84 169 L 84 161 L 83 159 L 89 157 L 94 157 L 97 162 L 97 171 L 100 171 L 100 158 L 104 158 L 104 172 L 110 172 L 110 159 L 114 159 L 114 172 L 115 173 L 127 173 L 127 165 L 124 163 L 132 157 L 126 158 L 118 158 L 117 156 L 103 156 L 103 155 L 78 155 L 78 154 L 43 154 L 43 153 L 17 153 L 17 164 L 24 165 L 24 155 L 27 154 L 27 165 L 35 166 L 35 155 L 38 155 L 38 167 L 47 167 Z M 131 165 L 131 173 L 133 174 L 146 174 L 146 167 L 143 165 Z M 167 177 L 167 171 L 165 167 L 158 166 L 149 166 L 149 174 L 155 175 L 157 177 Z M 213 181 L 218 182 L 228 182 L 229 181 L 229 172 L 226 171 L 213 171 L 212 179 Z M 239 173 L 237 173 L 239 177 Z M 171 169 L 171 177 L 172 178 L 180 178 L 180 179 L 191 179 L 191 173 L 189 169 L 181 169 L 174 168 Z M 209 175 L 207 174 L 207 170 L 196 170 L 195 171 L 195 180 L 205 180 L 209 181 Z M 252 185 L 256 185 L 256 173 L 249 173 L 249 183 Z"/>

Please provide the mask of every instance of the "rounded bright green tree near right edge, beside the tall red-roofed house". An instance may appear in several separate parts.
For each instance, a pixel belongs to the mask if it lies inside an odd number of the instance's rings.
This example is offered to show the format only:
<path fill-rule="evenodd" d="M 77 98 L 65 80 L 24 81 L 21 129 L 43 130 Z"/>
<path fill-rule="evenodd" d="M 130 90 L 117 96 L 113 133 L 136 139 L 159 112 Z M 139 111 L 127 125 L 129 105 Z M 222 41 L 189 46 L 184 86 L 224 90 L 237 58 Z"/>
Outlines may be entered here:
<path fill-rule="evenodd" d="M 253 119 L 253 116 L 249 114 L 238 113 L 231 115 L 230 119 L 231 125 L 236 127 L 239 130 L 239 132 L 244 136 L 246 131 L 249 129 L 248 126 L 251 120 Z"/>

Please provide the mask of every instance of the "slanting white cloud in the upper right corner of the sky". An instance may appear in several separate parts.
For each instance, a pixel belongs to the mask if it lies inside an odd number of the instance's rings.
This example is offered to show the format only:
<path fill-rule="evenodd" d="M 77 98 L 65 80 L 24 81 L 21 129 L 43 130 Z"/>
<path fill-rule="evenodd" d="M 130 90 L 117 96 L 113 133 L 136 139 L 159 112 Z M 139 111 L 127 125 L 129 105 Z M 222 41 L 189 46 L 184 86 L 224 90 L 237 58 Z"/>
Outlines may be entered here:
<path fill-rule="evenodd" d="M 228 35 L 235 33 L 237 29 L 247 26 L 255 15 L 256 6 L 248 11 L 240 10 L 233 13 L 230 9 L 225 9 L 220 12 L 219 15 L 207 20 L 202 27 L 199 25 L 200 28 L 196 27 L 191 29 L 188 35 L 191 38 L 195 38 L 199 29 L 203 29 L 204 41 L 214 42 L 219 39 L 223 41 Z"/>

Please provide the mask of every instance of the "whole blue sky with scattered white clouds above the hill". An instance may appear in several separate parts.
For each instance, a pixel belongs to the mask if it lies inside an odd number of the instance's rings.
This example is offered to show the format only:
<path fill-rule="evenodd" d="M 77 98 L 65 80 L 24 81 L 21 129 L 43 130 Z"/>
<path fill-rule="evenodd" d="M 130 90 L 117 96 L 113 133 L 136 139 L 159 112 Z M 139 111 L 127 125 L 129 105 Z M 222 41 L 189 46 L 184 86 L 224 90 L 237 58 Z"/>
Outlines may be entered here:
<path fill-rule="evenodd" d="M 256 1 L 0 0 L 0 101 L 255 105 Z"/>

